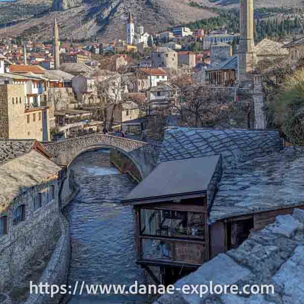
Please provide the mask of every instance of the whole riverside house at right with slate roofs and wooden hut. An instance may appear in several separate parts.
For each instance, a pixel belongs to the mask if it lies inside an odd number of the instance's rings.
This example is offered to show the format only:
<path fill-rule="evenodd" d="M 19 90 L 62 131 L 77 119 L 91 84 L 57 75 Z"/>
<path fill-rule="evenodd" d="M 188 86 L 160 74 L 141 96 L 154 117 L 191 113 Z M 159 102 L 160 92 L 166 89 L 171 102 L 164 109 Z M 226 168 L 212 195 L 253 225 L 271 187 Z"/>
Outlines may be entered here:
<path fill-rule="evenodd" d="M 304 209 L 303 161 L 277 131 L 168 131 L 159 165 L 123 200 L 134 207 L 137 263 L 172 284 Z"/>

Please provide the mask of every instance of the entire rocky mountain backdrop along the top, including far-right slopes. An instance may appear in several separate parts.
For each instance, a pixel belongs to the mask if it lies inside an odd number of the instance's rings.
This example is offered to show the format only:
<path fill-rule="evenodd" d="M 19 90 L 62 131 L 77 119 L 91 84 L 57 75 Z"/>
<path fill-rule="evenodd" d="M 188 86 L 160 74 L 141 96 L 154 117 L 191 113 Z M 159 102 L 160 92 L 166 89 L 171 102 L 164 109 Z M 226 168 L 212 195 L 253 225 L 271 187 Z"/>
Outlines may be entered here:
<path fill-rule="evenodd" d="M 38 0 L 17 0 L 17 6 L 25 7 Z M 53 0 L 46 9 L 49 0 L 44 2 L 43 9 L 37 13 L 33 9 L 20 21 L 0 28 L 0 35 L 25 35 L 33 39 L 52 39 L 52 23 L 57 15 L 60 37 L 62 40 L 88 39 L 100 37 L 109 42 L 125 39 L 125 24 L 129 11 L 132 11 L 136 25 L 143 25 L 148 32 L 155 32 L 175 24 L 193 22 L 195 20 L 215 16 L 208 7 L 232 8 L 239 5 L 239 0 L 196 0 L 206 9 L 190 6 L 192 0 Z M 256 7 L 302 6 L 303 0 L 256 0 Z M 9 10 L 9 8 L 8 8 Z M 15 8 L 14 8 L 15 10 Z M 21 10 L 21 12 L 22 12 Z M 1 14 L 7 11 L 0 5 Z M 12 9 L 10 10 L 13 13 Z M 20 12 L 19 12 L 20 14 Z M 23 20 L 22 20 L 23 19 Z"/>

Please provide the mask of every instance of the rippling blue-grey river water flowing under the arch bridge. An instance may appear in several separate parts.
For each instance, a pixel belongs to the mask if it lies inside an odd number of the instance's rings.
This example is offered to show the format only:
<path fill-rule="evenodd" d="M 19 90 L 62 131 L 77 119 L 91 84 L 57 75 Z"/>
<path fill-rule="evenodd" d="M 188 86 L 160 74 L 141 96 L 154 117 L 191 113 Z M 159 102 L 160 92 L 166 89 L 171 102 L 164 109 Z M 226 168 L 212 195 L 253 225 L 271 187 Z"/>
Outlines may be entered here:
<path fill-rule="evenodd" d="M 132 207 L 121 204 L 136 185 L 109 162 L 109 150 L 89 151 L 70 167 L 80 192 L 66 209 L 70 225 L 69 285 L 145 283 L 136 264 Z M 73 295 L 68 304 L 146 303 L 142 295 Z"/>

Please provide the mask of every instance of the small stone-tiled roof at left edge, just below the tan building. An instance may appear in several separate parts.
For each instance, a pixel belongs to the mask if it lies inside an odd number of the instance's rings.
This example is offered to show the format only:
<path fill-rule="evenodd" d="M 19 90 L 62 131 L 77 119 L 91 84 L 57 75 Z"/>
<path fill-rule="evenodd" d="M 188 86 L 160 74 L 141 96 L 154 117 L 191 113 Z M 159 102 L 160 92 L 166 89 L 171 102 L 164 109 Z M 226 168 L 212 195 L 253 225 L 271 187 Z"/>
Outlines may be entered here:
<path fill-rule="evenodd" d="M 0 139 L 0 165 L 32 150 L 35 139 Z"/>

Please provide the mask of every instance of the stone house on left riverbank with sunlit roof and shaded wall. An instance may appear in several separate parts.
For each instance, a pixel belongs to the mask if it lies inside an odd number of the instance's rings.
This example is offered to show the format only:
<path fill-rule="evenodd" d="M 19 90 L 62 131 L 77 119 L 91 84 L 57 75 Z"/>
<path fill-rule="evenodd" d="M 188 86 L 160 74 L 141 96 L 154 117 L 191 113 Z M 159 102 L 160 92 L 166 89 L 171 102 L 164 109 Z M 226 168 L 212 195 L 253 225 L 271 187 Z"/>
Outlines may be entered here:
<path fill-rule="evenodd" d="M 35 140 L 0 139 L 0 292 L 8 302 L 26 299 L 28 278 L 42 275 L 63 233 L 62 174 L 51 157 Z M 67 273 L 57 271 L 63 283 Z"/>

